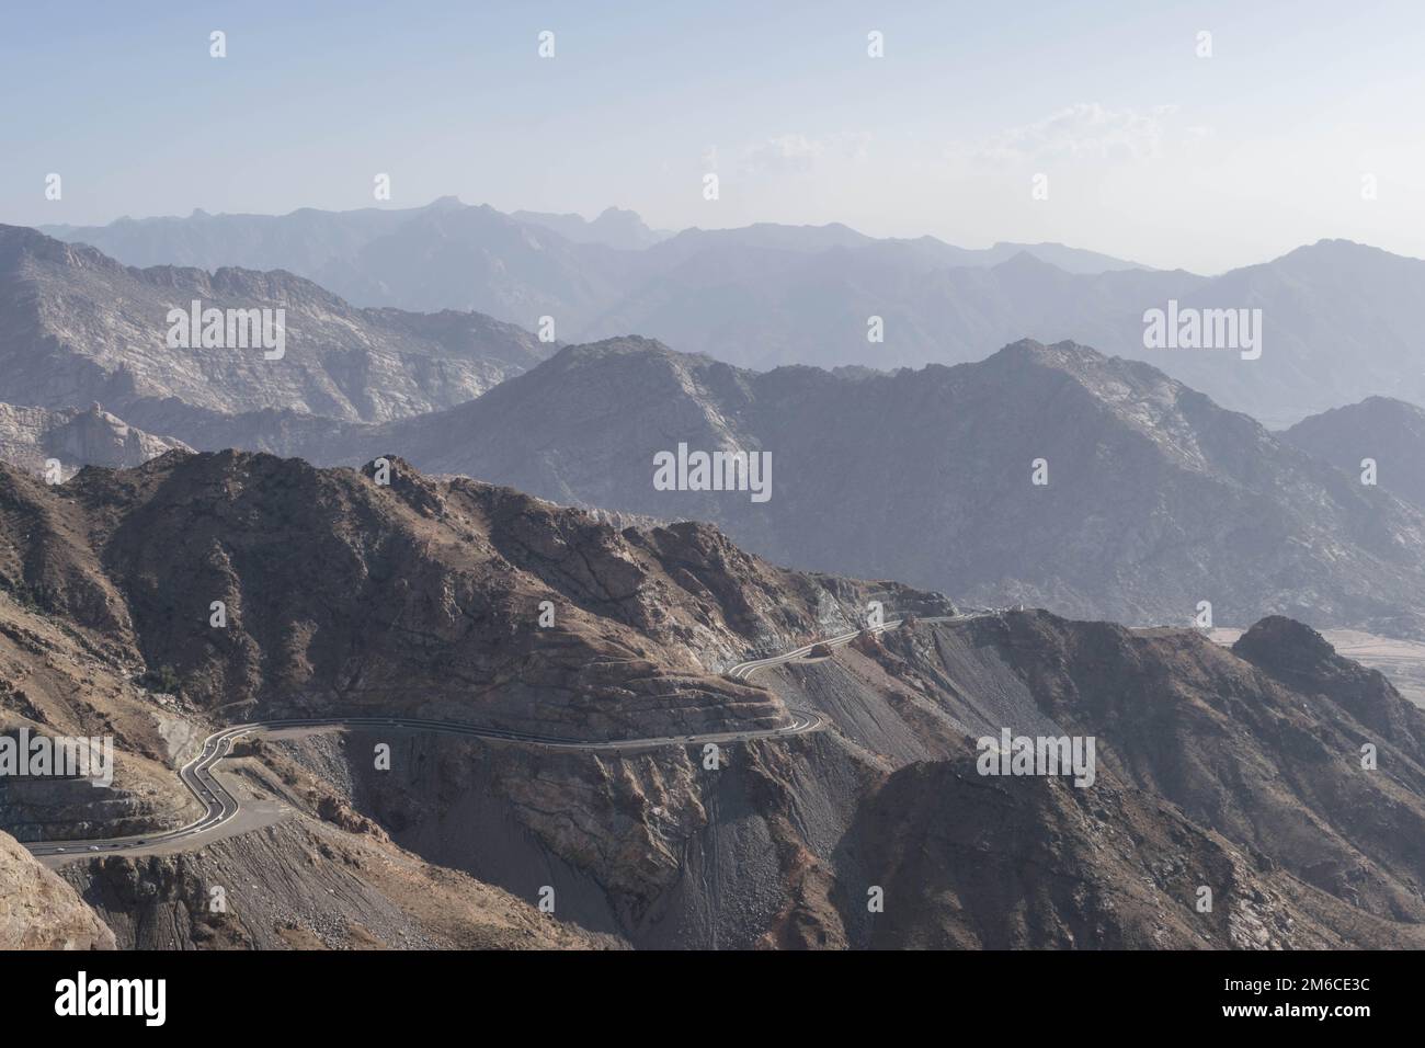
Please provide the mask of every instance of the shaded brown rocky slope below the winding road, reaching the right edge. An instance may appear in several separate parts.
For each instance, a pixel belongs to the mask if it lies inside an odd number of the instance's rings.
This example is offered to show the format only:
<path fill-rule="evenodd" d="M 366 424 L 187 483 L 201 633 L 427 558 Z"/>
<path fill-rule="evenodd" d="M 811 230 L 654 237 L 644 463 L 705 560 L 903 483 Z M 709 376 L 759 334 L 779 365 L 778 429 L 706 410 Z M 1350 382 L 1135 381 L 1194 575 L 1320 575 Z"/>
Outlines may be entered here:
<path fill-rule="evenodd" d="M 551 885 L 561 918 L 640 947 L 1425 941 L 1425 716 L 1335 656 L 1288 639 L 1278 657 L 1294 684 L 1187 632 L 1007 613 L 775 672 L 836 730 L 728 747 L 717 771 L 698 747 L 608 759 L 412 734 L 389 774 L 365 759 L 378 734 L 343 753 L 352 804 L 402 846 L 524 897 Z M 1371 680 L 1394 734 L 1359 702 Z M 979 774 L 970 740 L 1002 727 L 1096 736 L 1094 784 Z M 1362 737 L 1388 773 L 1359 767 Z"/>

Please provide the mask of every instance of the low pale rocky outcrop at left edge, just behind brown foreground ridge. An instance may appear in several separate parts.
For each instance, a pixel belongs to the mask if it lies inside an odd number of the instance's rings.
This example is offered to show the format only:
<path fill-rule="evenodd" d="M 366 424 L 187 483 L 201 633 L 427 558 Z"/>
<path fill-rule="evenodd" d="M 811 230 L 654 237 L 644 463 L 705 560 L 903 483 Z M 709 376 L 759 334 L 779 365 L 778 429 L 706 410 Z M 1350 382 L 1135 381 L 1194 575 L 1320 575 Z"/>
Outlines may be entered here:
<path fill-rule="evenodd" d="M 0 404 L 0 461 L 31 472 L 43 473 L 53 458 L 60 461 L 61 479 L 68 479 L 81 466 L 138 466 L 174 449 L 191 451 L 181 441 L 137 429 L 97 404 L 88 411 Z"/>

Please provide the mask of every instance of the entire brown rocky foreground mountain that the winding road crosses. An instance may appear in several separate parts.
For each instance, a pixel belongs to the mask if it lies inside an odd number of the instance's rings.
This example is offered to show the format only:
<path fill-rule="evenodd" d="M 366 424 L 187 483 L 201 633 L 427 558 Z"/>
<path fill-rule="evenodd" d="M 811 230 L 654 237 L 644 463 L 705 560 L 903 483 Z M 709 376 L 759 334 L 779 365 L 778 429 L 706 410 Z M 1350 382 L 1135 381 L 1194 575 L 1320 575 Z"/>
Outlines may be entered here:
<path fill-rule="evenodd" d="M 711 764 L 677 741 L 252 740 L 219 773 L 247 821 L 201 848 L 57 863 L 120 945 L 1425 944 L 1425 714 L 1298 623 L 1228 650 L 960 615 L 772 567 L 707 525 L 617 529 L 390 465 L 382 485 L 171 452 L 60 486 L 0 466 L 0 711 L 107 730 L 120 751 L 113 791 L 30 783 L 17 801 L 7 784 L 0 824 L 53 840 L 185 821 L 171 767 L 255 714 L 587 740 L 791 709 L 824 727 L 727 743 Z M 903 620 L 720 676 L 854 629 L 869 600 Z M 1092 774 L 986 776 L 976 740 L 1003 730 L 1092 736 Z M 201 905 L 212 884 L 231 885 L 227 914 Z M 553 917 L 533 911 L 546 890 Z"/>

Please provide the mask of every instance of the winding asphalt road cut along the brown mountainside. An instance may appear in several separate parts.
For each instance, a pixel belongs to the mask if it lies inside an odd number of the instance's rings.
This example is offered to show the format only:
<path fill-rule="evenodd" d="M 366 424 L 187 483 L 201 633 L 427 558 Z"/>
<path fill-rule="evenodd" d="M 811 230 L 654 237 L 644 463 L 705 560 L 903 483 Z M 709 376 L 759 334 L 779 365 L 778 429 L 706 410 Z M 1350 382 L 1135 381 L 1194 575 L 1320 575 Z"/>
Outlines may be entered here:
<path fill-rule="evenodd" d="M 949 616 L 928 617 L 922 622 L 949 622 Z M 752 673 L 781 666 L 801 659 L 817 644 L 826 647 L 841 647 L 849 644 L 862 632 L 884 633 L 901 625 L 901 619 L 872 626 L 868 630 L 852 630 L 828 640 L 818 640 L 802 644 L 791 652 L 767 659 L 752 659 L 738 663 L 725 672 L 732 680 L 747 680 Z M 425 720 L 419 717 L 289 717 L 281 720 L 258 720 L 248 724 L 234 724 L 221 731 L 214 731 L 202 743 L 202 750 L 178 770 L 178 777 L 184 786 L 204 804 L 204 814 L 194 823 L 177 830 L 162 830 L 148 834 L 131 834 L 127 837 L 105 837 L 100 840 L 54 840 L 31 841 L 24 847 L 33 856 L 84 856 L 93 853 L 124 853 L 151 848 L 172 841 L 185 841 L 198 836 L 208 836 L 224 823 L 229 821 L 241 810 L 238 798 L 218 781 L 212 774 L 214 766 L 232 751 L 232 744 L 242 736 L 259 731 L 278 731 L 292 727 L 366 727 L 366 729 L 405 729 L 413 731 L 440 731 L 445 734 L 459 734 L 469 739 L 489 739 L 496 741 L 537 746 L 549 750 L 580 750 L 591 753 L 618 753 L 623 750 L 647 750 L 658 746 L 698 746 L 704 743 L 745 743 L 754 739 L 781 739 L 784 736 L 804 734 L 824 727 L 819 714 L 811 710 L 789 710 L 792 721 L 784 727 L 750 729 L 747 731 L 715 731 L 690 736 L 656 736 L 648 739 L 618 739 L 583 741 L 576 739 L 560 739 L 556 736 L 529 734 L 522 731 L 504 731 L 500 729 L 477 727 L 449 720 Z M 197 841 L 192 841 L 197 844 Z"/>

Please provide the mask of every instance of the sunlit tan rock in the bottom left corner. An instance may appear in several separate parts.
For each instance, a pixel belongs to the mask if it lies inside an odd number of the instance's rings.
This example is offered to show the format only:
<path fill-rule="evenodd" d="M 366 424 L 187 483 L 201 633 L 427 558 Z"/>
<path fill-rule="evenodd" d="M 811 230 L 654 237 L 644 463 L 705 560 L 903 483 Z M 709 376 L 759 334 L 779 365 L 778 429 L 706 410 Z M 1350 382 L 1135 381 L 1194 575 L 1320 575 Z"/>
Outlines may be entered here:
<path fill-rule="evenodd" d="M 0 833 L 0 950 L 113 950 L 114 933 L 74 888 Z"/>

